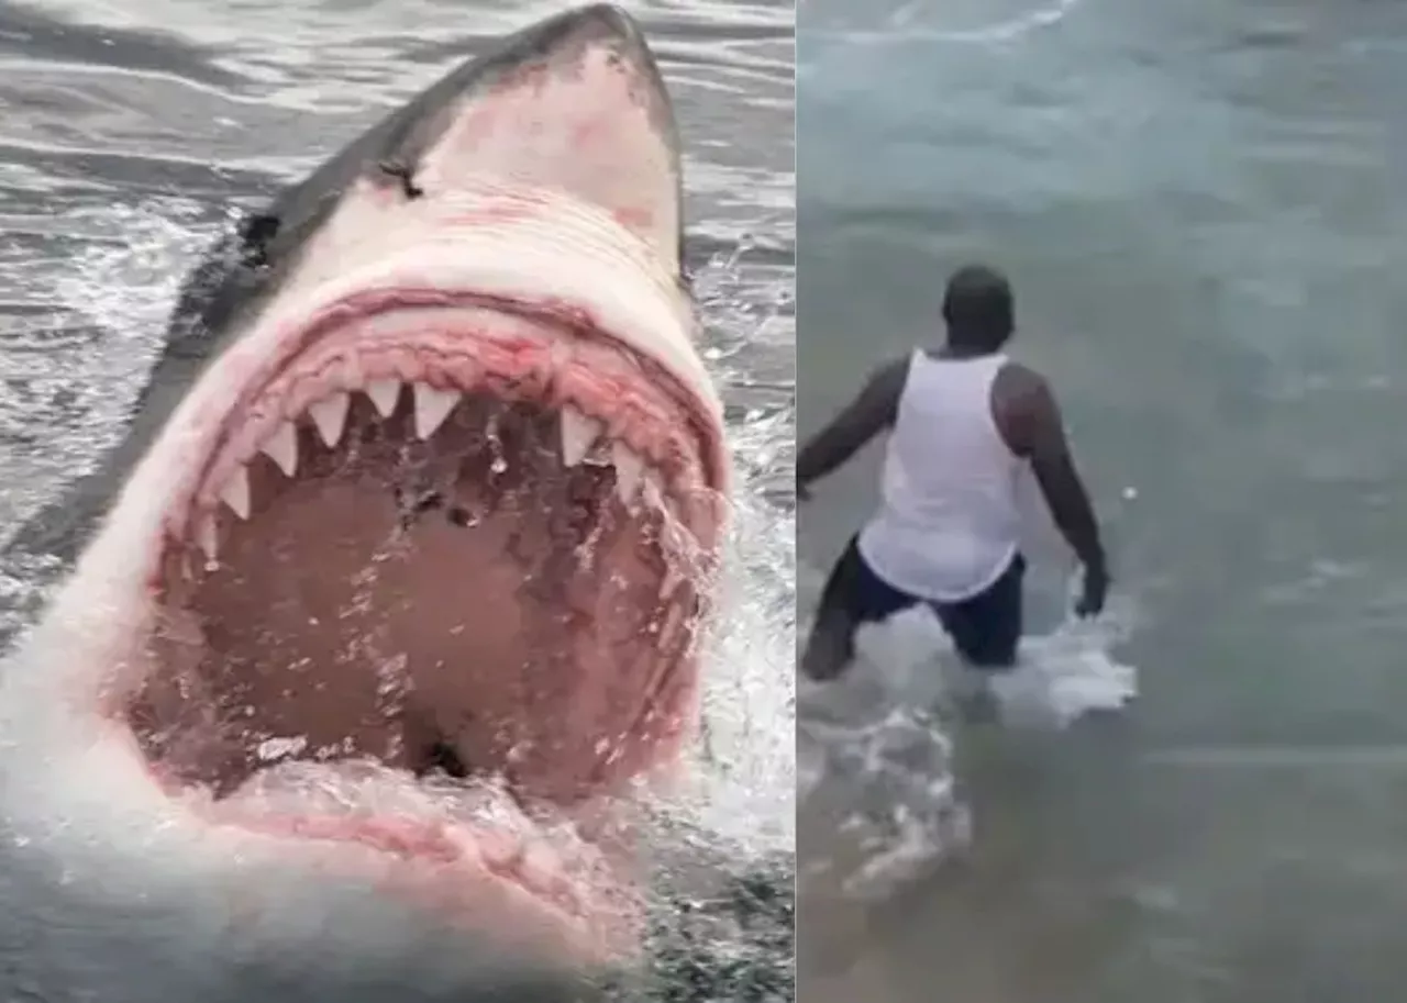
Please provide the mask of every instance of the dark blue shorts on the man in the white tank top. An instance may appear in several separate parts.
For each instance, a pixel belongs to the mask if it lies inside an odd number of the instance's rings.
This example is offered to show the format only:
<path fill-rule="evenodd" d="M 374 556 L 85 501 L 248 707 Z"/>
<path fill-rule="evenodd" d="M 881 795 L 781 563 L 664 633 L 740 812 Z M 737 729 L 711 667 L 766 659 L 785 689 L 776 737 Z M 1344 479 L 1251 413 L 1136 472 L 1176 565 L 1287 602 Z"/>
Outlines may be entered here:
<path fill-rule="evenodd" d="M 1024 577 L 1026 558 L 1016 553 L 985 591 L 960 602 L 927 602 L 969 665 L 1003 670 L 1016 664 Z M 813 679 L 834 678 L 854 658 L 855 630 L 861 625 L 885 620 L 920 602 L 926 601 L 875 574 L 851 537 L 822 589 L 816 623 L 802 653 L 802 671 Z"/>

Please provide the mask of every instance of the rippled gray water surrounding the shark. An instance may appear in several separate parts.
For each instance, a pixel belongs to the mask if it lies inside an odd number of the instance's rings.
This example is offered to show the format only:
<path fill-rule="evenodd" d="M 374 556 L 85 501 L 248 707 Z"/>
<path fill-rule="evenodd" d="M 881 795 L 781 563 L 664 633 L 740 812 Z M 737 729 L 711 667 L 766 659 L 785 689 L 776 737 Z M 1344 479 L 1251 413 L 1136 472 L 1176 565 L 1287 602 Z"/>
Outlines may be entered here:
<path fill-rule="evenodd" d="M 0 542 L 118 436 L 176 286 L 231 205 L 257 204 L 480 45 L 563 6 L 0 0 Z M 775 681 L 791 658 L 794 580 L 791 515 L 775 498 L 788 492 L 778 456 L 794 437 L 792 11 L 772 0 L 626 6 L 681 120 L 687 253 L 739 466 L 732 608 L 708 684 L 718 817 L 705 813 L 698 836 L 726 829 L 743 871 L 753 851 L 758 868 L 781 861 L 767 874 L 785 896 L 791 722 Z M 0 613 L 27 608 L 39 571 L 0 568 Z M 414 972 L 357 996 L 236 969 L 218 944 L 187 957 L 121 903 L 76 910 L 34 860 L 0 847 L 6 1000 L 422 997 Z M 760 937 L 763 968 L 789 969 L 784 926 Z M 708 950 L 698 954 L 706 966 Z"/>

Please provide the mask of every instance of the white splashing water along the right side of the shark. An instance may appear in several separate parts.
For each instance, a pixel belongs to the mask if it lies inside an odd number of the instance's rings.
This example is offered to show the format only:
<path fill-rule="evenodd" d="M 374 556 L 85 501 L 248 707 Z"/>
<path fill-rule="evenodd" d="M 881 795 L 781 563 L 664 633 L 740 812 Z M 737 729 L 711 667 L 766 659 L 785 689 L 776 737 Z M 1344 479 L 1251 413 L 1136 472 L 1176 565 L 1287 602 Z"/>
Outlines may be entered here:
<path fill-rule="evenodd" d="M 764 338 L 791 304 L 789 290 L 774 290 L 758 309 L 757 290 L 741 290 L 740 264 L 750 249 L 744 235 L 695 276 L 699 308 L 716 328 L 704 357 L 720 385 L 756 385 L 733 367 L 737 356 L 747 342 Z M 699 851 L 691 865 L 705 861 L 715 878 L 702 896 L 688 890 L 663 896 L 654 985 L 642 999 L 795 999 L 796 536 L 792 515 L 764 497 L 795 437 L 794 425 L 791 402 L 751 407 L 740 422 L 729 422 L 737 487 L 720 613 L 705 641 L 695 784 L 660 806 L 674 836 Z M 667 875 L 664 883 L 677 882 L 691 885 L 688 875 Z"/>

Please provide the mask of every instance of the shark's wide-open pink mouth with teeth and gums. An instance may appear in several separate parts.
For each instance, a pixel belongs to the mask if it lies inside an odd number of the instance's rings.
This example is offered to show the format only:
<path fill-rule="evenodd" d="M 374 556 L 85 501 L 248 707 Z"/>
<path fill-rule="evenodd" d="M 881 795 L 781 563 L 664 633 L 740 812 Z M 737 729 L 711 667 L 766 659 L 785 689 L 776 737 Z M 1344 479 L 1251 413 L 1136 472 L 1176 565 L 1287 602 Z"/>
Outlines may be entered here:
<path fill-rule="evenodd" d="M 580 318 L 471 297 L 363 295 L 291 345 L 205 377 L 245 390 L 170 513 L 125 720 L 224 820 L 588 923 L 601 860 L 585 881 L 518 823 L 597 817 L 682 737 L 709 423 Z"/>

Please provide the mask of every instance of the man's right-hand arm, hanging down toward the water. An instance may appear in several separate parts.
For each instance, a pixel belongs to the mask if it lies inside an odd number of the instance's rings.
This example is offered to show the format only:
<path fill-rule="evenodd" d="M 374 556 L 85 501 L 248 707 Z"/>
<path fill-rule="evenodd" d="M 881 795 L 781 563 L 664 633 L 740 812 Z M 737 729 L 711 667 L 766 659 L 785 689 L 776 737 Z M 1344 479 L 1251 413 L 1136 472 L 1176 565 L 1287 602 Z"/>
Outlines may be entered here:
<path fill-rule="evenodd" d="M 1089 492 L 1075 470 L 1065 422 L 1050 385 L 1037 373 L 1012 366 L 1003 373 L 1009 392 L 1003 422 L 1012 447 L 1031 464 L 1051 518 L 1088 573 L 1106 577 L 1104 547 Z"/>

